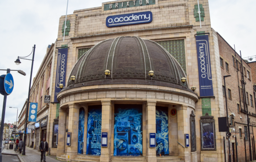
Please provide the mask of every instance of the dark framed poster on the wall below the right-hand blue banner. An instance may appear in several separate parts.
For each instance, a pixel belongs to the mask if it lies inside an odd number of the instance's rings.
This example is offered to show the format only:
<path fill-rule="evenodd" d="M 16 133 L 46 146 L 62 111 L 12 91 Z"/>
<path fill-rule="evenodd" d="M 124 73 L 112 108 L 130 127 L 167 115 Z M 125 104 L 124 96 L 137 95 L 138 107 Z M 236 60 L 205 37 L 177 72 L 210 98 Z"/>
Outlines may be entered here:
<path fill-rule="evenodd" d="M 214 149 L 214 125 L 213 122 L 201 123 L 202 149 Z"/>

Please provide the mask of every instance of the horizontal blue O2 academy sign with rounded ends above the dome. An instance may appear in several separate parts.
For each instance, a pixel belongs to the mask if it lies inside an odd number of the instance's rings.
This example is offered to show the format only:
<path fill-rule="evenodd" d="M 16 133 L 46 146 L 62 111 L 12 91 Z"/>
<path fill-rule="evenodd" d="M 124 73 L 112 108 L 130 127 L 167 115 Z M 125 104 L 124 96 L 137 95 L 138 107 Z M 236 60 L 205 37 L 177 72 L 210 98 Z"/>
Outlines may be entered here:
<path fill-rule="evenodd" d="M 123 25 L 144 24 L 150 23 L 152 19 L 152 12 L 150 11 L 112 15 L 107 17 L 106 25 L 107 27 L 114 27 Z"/>

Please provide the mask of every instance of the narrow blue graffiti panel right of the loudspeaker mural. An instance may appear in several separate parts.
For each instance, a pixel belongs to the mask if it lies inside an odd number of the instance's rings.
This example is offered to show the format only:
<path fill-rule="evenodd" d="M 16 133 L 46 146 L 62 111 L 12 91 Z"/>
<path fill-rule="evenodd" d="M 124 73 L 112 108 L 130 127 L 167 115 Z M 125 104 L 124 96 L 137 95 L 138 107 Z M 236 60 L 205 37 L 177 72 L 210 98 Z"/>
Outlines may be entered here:
<path fill-rule="evenodd" d="M 156 106 L 157 156 L 169 155 L 168 107 Z"/>

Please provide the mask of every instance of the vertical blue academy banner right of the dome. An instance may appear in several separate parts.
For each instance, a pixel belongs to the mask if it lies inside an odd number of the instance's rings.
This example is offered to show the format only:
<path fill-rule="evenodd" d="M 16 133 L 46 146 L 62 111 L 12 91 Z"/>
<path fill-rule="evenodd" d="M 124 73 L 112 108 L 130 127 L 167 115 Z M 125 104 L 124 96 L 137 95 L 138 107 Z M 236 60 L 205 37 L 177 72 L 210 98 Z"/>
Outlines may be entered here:
<path fill-rule="evenodd" d="M 196 36 L 200 97 L 213 96 L 208 35 Z"/>

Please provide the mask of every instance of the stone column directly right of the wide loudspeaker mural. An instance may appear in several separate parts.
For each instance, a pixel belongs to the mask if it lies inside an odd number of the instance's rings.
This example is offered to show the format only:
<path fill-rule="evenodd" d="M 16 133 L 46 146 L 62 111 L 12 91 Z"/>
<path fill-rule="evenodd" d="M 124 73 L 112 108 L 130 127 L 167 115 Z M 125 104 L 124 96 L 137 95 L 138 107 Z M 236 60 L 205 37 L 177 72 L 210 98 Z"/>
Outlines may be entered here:
<path fill-rule="evenodd" d="M 156 101 L 147 101 L 146 105 L 146 159 L 157 162 L 156 148 L 149 147 L 149 133 L 156 133 Z"/>

